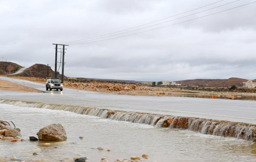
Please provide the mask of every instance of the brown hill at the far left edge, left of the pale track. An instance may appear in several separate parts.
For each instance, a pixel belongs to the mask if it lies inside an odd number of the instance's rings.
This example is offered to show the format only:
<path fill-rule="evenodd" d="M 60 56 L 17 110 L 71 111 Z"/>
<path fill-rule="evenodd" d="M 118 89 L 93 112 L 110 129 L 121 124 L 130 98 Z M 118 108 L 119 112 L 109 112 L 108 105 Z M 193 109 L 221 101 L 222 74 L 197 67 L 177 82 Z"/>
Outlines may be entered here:
<path fill-rule="evenodd" d="M 22 66 L 13 62 L 0 61 L 0 75 L 12 74 L 20 70 Z"/>

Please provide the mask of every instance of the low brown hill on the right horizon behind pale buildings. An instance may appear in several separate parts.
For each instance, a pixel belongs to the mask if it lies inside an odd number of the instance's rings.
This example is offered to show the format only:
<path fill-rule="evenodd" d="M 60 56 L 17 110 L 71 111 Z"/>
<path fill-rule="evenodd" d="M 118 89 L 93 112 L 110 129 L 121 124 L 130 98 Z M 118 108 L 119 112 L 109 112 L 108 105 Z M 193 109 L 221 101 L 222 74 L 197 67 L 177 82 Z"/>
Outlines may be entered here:
<path fill-rule="evenodd" d="M 236 85 L 241 87 L 243 82 L 247 79 L 242 78 L 229 78 L 229 79 L 193 79 L 193 80 L 184 80 L 176 81 L 183 86 L 209 86 L 209 87 L 228 87 Z"/>

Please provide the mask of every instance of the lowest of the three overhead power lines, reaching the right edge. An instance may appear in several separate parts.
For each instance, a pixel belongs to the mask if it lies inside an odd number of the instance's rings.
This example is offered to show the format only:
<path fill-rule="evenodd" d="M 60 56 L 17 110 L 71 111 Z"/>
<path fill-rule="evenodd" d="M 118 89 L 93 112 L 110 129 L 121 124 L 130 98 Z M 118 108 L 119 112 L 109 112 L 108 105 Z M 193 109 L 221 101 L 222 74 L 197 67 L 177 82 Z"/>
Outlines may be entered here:
<path fill-rule="evenodd" d="M 109 38 L 109 39 L 102 39 L 102 40 L 98 40 L 98 41 L 85 42 L 85 43 L 78 43 L 78 44 L 73 44 L 73 45 L 81 45 L 81 44 L 88 44 L 88 43 L 94 43 L 94 42 L 101 42 L 101 41 L 105 41 L 105 40 L 116 39 L 116 38 L 121 38 L 121 37 L 125 37 L 125 36 L 131 36 L 131 35 L 135 35 L 135 34 L 145 33 L 145 32 L 148 32 L 148 31 L 153 31 L 153 30 L 157 30 L 157 29 L 161 29 L 161 28 L 166 28 L 166 27 L 169 27 L 169 26 L 181 24 L 181 23 L 184 23 L 184 22 L 189 22 L 189 21 L 192 21 L 192 20 L 201 19 L 201 18 L 203 18 L 203 17 L 208 17 L 208 16 L 211 16 L 211 15 L 214 15 L 214 14 L 219 14 L 219 13 L 221 13 L 221 12 L 229 11 L 229 10 L 232 10 L 232 9 L 235 9 L 235 8 L 239 8 L 239 7 L 242 7 L 242 6 L 247 6 L 247 5 L 250 5 L 250 4 L 252 4 L 252 3 L 256 3 L 256 1 L 251 2 L 251 3 L 244 4 L 244 5 L 241 5 L 241 6 L 229 8 L 229 9 L 226 9 L 226 10 L 223 10 L 223 11 L 218 11 L 218 12 L 215 12 L 215 13 L 212 13 L 212 14 L 207 14 L 207 15 L 204 15 L 204 16 L 201 16 L 201 17 L 196 17 L 196 18 L 194 18 L 194 19 L 190 19 L 190 20 L 186 20 L 186 21 L 182 21 L 182 22 L 177 22 L 177 23 L 175 23 L 175 24 L 166 25 L 166 26 L 162 26 L 162 27 L 159 27 L 159 28 L 150 29 L 150 30 L 147 30 L 147 31 L 141 31 L 141 32 L 133 33 L 133 34 L 127 34 L 127 35 L 124 35 L 124 36 L 117 36 L 117 37 L 113 37 L 113 38 Z"/>

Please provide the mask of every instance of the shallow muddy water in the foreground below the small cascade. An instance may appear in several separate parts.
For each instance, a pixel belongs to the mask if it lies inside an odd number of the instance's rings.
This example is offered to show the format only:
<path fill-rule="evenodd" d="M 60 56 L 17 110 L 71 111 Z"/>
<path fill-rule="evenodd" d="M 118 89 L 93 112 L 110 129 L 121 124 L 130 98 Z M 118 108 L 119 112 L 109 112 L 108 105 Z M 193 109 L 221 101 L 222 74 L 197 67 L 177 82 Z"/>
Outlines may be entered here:
<path fill-rule="evenodd" d="M 0 141 L 0 156 L 15 155 L 17 159 L 51 162 L 72 161 L 73 157 L 79 156 L 87 156 L 91 162 L 99 162 L 101 157 L 113 161 L 142 154 L 149 155 L 148 162 L 254 162 L 256 159 L 256 144 L 246 140 L 3 103 L 0 112 L 3 120 L 11 120 L 21 129 L 24 139 L 49 123 L 61 123 L 68 137 L 66 142 L 47 144 L 29 140 Z M 79 136 L 84 139 L 80 140 Z M 109 148 L 111 152 L 95 149 L 98 146 Z M 38 155 L 32 155 L 34 148 Z"/>

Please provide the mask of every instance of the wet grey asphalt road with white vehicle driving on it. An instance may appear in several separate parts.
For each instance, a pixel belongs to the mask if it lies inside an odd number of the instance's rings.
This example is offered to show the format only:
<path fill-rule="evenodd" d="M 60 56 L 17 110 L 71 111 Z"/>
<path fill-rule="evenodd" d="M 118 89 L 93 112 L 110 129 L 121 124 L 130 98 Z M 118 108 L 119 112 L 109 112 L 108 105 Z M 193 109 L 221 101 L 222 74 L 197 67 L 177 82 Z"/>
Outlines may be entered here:
<path fill-rule="evenodd" d="M 256 124 L 256 101 L 115 95 L 67 89 L 65 87 L 62 92 L 46 91 L 44 84 L 8 77 L 0 77 L 0 79 L 42 91 L 42 93 L 35 93 L 0 90 L 1 99 L 94 106 L 106 109 L 203 117 Z"/>

